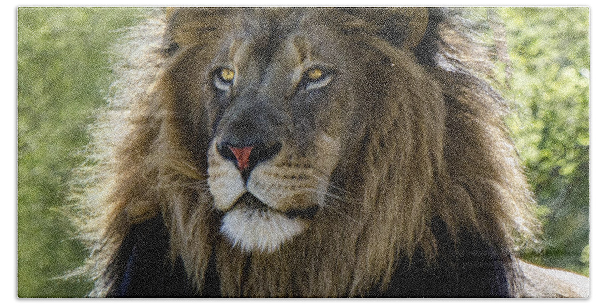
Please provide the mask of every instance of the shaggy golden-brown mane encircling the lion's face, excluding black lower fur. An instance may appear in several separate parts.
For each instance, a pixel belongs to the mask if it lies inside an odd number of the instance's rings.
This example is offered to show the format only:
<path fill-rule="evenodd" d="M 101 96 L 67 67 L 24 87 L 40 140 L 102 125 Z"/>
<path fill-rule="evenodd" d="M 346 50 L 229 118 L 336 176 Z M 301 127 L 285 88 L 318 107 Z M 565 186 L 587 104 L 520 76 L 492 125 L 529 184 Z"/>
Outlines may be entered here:
<path fill-rule="evenodd" d="M 536 222 L 502 121 L 506 105 L 484 81 L 495 54 L 471 34 L 484 23 L 443 8 L 428 14 L 224 8 L 151 15 L 115 48 L 118 81 L 92 129 L 90 162 L 80 169 L 78 226 L 91 250 L 80 273 L 95 281 L 91 296 L 107 295 L 122 277 L 118 250 L 124 237 L 158 215 L 171 260 L 182 260 L 198 294 L 208 269 L 217 270 L 222 296 L 364 296 L 376 286 L 384 290 L 400 258 L 417 260 L 417 250 L 426 264 L 438 257 L 434 220 L 443 222 L 452 241 L 459 235 L 486 241 L 515 290 L 515 248 L 535 240 Z M 232 222 L 221 234 L 226 223 L 222 206 L 215 206 L 220 193 L 208 186 L 207 159 L 221 110 L 209 101 L 211 82 L 196 80 L 214 65 L 223 40 L 239 48 L 233 33 L 288 23 L 310 36 L 311 48 L 318 47 L 315 40 L 331 40 L 325 48 L 339 52 L 343 63 L 329 64 L 344 72 L 332 80 L 341 94 L 327 97 L 327 105 L 337 107 L 316 110 L 310 141 L 298 139 L 300 147 L 310 143 L 324 157 L 309 158 L 312 167 L 323 169 L 309 174 L 320 197 L 304 196 L 288 202 L 298 205 L 288 209 L 309 201 L 320 208 L 304 226 L 296 223 L 301 228 L 287 229 L 292 234 L 284 242 L 268 238 L 272 252 L 262 252 L 228 238 L 239 219 L 227 220 Z M 296 46 L 299 51 L 304 44 Z M 197 53 L 187 57 L 192 48 Z M 323 132 L 334 143 L 324 147 L 333 151 L 321 148 L 318 126 L 329 126 Z M 319 164 L 331 159 L 333 165 Z M 293 222 L 275 220 L 262 226 Z M 211 258 L 215 267 L 208 264 Z"/>

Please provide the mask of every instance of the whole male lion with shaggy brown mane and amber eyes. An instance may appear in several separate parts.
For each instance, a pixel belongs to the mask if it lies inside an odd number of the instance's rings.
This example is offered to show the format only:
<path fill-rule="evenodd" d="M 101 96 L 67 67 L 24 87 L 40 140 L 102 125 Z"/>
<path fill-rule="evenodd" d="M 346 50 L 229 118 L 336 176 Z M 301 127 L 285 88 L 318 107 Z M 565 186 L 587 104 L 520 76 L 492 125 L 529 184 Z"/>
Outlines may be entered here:
<path fill-rule="evenodd" d="M 90 296 L 583 294 L 517 258 L 534 203 L 457 10 L 152 15 L 80 168 Z"/>

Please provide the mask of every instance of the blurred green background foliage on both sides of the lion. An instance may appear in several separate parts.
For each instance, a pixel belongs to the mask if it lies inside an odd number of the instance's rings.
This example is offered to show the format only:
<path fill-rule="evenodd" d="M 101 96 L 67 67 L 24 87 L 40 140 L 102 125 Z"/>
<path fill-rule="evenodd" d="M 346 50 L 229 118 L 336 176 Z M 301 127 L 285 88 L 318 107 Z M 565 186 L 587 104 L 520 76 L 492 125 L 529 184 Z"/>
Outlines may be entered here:
<path fill-rule="evenodd" d="M 81 297 L 57 279 L 82 263 L 63 209 L 86 129 L 111 84 L 109 50 L 140 8 L 18 9 L 18 296 Z M 498 85 L 539 204 L 542 250 L 524 257 L 589 275 L 588 8 L 500 8 L 512 74 Z"/>

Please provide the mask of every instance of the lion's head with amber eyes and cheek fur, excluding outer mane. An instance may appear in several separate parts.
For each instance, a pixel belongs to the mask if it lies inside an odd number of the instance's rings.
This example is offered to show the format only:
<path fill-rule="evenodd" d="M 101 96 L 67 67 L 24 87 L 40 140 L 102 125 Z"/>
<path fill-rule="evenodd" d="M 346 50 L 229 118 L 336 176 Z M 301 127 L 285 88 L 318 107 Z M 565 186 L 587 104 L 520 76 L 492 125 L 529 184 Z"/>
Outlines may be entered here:
<path fill-rule="evenodd" d="M 421 18 L 413 12 L 391 13 Z M 344 203 L 355 214 L 373 210 L 361 205 L 364 193 L 349 189 L 379 179 L 366 176 L 380 150 L 417 161 L 396 165 L 401 179 L 415 167 L 414 176 L 431 180 L 438 167 L 428 161 L 430 151 L 442 156 L 438 86 L 408 46 L 379 39 L 376 21 L 333 14 L 190 9 L 170 16 L 171 63 L 160 81 L 178 107 L 169 110 L 179 116 L 173 128 L 191 164 L 207 173 L 212 208 L 223 214 L 220 231 L 246 252 L 274 252 L 313 222 L 332 222 L 327 215 Z M 426 24 L 413 30 L 423 33 Z"/>

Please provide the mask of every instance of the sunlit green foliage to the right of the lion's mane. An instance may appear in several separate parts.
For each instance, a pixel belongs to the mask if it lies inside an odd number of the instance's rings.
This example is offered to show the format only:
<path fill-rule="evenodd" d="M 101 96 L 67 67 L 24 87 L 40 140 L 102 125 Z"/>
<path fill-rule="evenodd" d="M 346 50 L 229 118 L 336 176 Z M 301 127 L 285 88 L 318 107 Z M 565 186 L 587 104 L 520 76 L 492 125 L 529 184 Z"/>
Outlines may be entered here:
<path fill-rule="evenodd" d="M 509 121 L 536 200 L 545 246 L 527 258 L 588 275 L 590 24 L 588 8 L 504 8 L 513 76 Z M 587 254 L 589 254 L 587 252 Z M 588 256 L 588 255 L 587 255 Z"/>

